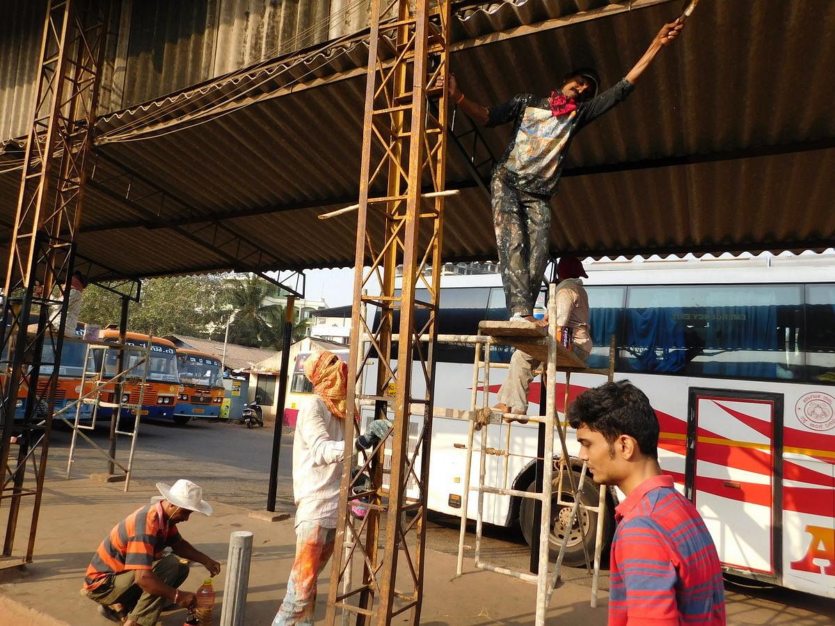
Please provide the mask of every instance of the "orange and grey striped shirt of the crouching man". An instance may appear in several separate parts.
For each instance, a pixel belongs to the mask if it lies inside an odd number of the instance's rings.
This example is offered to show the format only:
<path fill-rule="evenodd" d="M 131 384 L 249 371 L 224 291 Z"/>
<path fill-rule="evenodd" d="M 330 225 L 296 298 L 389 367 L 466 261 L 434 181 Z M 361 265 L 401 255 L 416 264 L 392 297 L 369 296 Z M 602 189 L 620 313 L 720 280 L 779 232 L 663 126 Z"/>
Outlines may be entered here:
<path fill-rule="evenodd" d="M 150 569 L 166 546 L 179 542 L 177 527 L 168 525 L 159 503 L 139 508 L 116 524 L 99 545 L 84 574 L 84 588 L 99 587 L 111 574 Z"/>

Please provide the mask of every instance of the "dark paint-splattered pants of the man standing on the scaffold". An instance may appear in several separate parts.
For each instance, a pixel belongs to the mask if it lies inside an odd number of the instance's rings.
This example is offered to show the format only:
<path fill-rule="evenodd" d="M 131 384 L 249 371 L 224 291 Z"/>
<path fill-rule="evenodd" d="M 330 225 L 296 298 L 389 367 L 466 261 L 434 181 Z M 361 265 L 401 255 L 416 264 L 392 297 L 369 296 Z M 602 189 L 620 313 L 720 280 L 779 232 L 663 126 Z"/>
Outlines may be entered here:
<path fill-rule="evenodd" d="M 508 312 L 510 316 L 530 316 L 548 264 L 549 197 L 508 187 L 498 173 L 490 187 Z"/>

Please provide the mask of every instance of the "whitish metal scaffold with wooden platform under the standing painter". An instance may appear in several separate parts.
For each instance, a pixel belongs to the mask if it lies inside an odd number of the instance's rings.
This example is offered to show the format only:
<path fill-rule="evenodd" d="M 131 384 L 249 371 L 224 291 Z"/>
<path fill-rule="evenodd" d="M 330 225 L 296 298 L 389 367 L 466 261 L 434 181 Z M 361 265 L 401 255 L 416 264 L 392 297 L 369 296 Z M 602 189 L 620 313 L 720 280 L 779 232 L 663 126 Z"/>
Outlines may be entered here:
<path fill-rule="evenodd" d="M 511 489 L 508 487 L 508 469 L 509 457 L 524 456 L 516 452 L 511 452 L 511 435 L 510 422 L 519 418 L 518 415 L 505 414 L 501 415 L 498 412 L 490 411 L 488 407 L 488 397 L 490 388 L 490 348 L 493 344 L 509 344 L 515 346 L 518 350 L 523 350 L 529 354 L 533 354 L 540 361 L 542 361 L 545 371 L 545 381 L 555 381 L 556 372 L 563 371 L 565 373 L 565 396 L 564 407 L 567 408 L 569 401 L 569 381 L 572 371 L 582 371 L 584 373 L 601 374 L 607 376 L 611 381 L 614 376 L 615 364 L 615 345 L 614 338 L 610 344 L 610 359 L 609 367 L 605 370 L 587 368 L 582 361 L 574 356 L 571 351 L 566 350 L 557 340 L 557 326 L 556 326 L 556 285 L 549 285 L 549 326 L 548 330 L 535 328 L 529 324 L 514 323 L 514 322 L 482 322 L 479 325 L 479 336 L 487 335 L 486 342 L 476 342 L 475 344 L 475 359 L 473 362 L 473 391 L 472 391 L 472 411 L 469 412 L 469 428 L 467 453 L 465 460 L 465 468 L 463 472 L 463 493 L 462 493 L 462 514 L 461 514 L 461 528 L 458 540 L 458 568 L 457 573 L 460 575 L 463 572 L 463 543 L 466 536 L 467 526 L 467 510 L 469 492 L 478 492 L 478 507 L 476 514 L 476 540 L 475 540 L 475 567 L 486 569 L 496 573 L 504 573 L 515 578 L 520 578 L 529 583 L 536 583 L 537 585 L 537 607 L 536 620 L 537 626 L 545 623 L 545 612 L 550 603 L 551 596 L 554 592 L 554 586 L 559 580 L 559 571 L 564 558 L 565 550 L 568 544 L 569 533 L 565 533 L 563 543 L 560 546 L 559 556 L 554 568 L 554 573 L 549 573 L 549 528 L 551 519 L 552 503 L 558 506 L 571 507 L 569 514 L 569 522 L 567 528 L 572 528 L 574 520 L 577 518 L 579 507 L 583 507 L 589 512 L 597 513 L 597 528 L 596 528 L 596 543 L 595 543 L 595 558 L 593 564 L 593 581 L 592 581 L 592 598 L 591 606 L 596 606 L 597 603 L 597 589 L 600 574 L 600 550 L 602 548 L 602 535 L 605 524 L 605 493 L 606 487 L 601 485 L 599 492 L 599 499 L 597 506 L 590 506 L 580 502 L 580 497 L 573 497 L 571 502 L 564 500 L 564 491 L 572 495 L 579 494 L 584 485 L 587 470 L 585 464 L 580 472 L 579 482 L 574 484 L 574 472 L 569 463 L 569 454 L 566 447 L 565 437 L 567 432 L 567 422 L 558 421 L 556 402 L 554 393 L 546 394 L 546 405 L 544 416 L 526 416 L 529 422 L 543 424 L 546 432 L 544 437 L 544 452 L 539 458 L 543 461 L 543 491 L 542 492 L 527 492 L 519 489 Z M 486 346 L 486 352 L 482 355 L 482 346 Z M 493 364 L 495 366 L 495 364 Z M 545 384 L 545 381 L 543 384 Z M 481 393 L 481 402 L 478 402 L 478 394 Z M 480 406 L 479 406 L 480 404 Z M 497 449 L 488 447 L 488 427 L 491 425 L 507 424 L 505 428 L 504 449 Z M 479 428 L 480 427 L 480 428 Z M 472 487 L 470 484 L 470 473 L 472 471 L 473 461 L 473 442 L 475 431 L 481 430 L 480 442 L 478 444 L 479 455 L 479 477 L 478 486 Z M 556 471 L 559 479 L 557 481 L 557 490 L 554 492 L 554 429 L 559 435 L 560 455 L 559 463 Z M 547 433 L 552 433 L 550 437 Z M 504 457 L 504 472 L 498 487 L 488 486 L 484 484 L 486 475 L 486 458 L 489 455 Z M 534 457 L 531 457 L 534 458 Z M 564 490 L 563 477 L 568 477 L 569 488 Z M 519 570 L 504 568 L 492 563 L 483 562 L 481 559 L 481 538 L 483 532 L 483 505 L 484 494 L 492 493 L 497 496 L 522 497 L 538 500 L 541 502 L 541 513 L 539 517 L 539 566 L 537 573 L 522 572 Z M 555 497 L 555 502 L 554 502 Z M 584 552 L 585 546 L 584 546 Z M 588 553 L 585 554 L 586 566 L 590 567 L 590 559 Z"/>

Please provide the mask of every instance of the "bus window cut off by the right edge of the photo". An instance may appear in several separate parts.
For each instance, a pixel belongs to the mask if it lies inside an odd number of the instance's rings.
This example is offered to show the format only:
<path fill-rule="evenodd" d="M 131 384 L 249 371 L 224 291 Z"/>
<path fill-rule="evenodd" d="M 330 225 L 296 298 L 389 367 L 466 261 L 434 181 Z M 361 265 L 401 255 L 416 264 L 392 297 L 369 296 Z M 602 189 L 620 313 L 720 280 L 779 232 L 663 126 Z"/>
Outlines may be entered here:
<path fill-rule="evenodd" d="M 806 338 L 807 380 L 835 382 L 835 285 L 807 285 Z"/>

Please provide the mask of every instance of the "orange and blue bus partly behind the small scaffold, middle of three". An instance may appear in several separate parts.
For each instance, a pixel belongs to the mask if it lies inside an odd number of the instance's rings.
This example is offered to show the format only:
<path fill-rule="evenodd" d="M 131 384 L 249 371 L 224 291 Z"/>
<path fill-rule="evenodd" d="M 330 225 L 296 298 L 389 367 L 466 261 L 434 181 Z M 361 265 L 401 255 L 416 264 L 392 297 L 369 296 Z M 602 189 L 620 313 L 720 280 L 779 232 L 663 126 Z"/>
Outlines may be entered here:
<path fill-rule="evenodd" d="M 173 343 L 162 337 L 150 338 L 138 332 L 129 332 L 125 336 L 124 343 L 127 346 L 134 346 L 135 348 L 145 349 L 148 346 L 150 339 L 150 356 L 148 363 L 148 376 L 144 383 L 131 382 L 130 378 L 134 376 L 141 377 L 145 369 L 144 365 L 139 365 L 130 372 L 127 382 L 122 385 L 122 403 L 123 404 L 138 404 L 140 390 L 142 393 L 142 409 L 141 417 L 149 419 L 175 419 L 175 407 L 177 404 L 177 391 L 180 388 L 180 376 L 177 374 L 177 351 Z M 104 343 L 117 343 L 119 341 L 119 330 L 113 327 L 105 328 L 101 334 L 101 340 Z M 136 366 L 142 360 L 143 350 L 126 350 L 124 351 L 123 367 L 127 370 L 131 366 Z M 102 371 L 101 363 L 102 351 L 99 351 L 95 357 L 95 369 Z M 108 380 L 117 374 L 117 362 L 119 358 L 119 350 L 117 348 L 109 348 L 104 353 L 104 379 Z M 144 390 L 142 387 L 144 386 Z M 105 386 L 102 400 L 105 402 L 116 403 L 119 398 L 115 397 L 115 386 Z M 100 406 L 99 415 L 107 418 L 112 415 L 113 409 Z M 130 418 L 133 416 L 133 411 L 129 408 L 122 409 L 122 416 Z"/>

